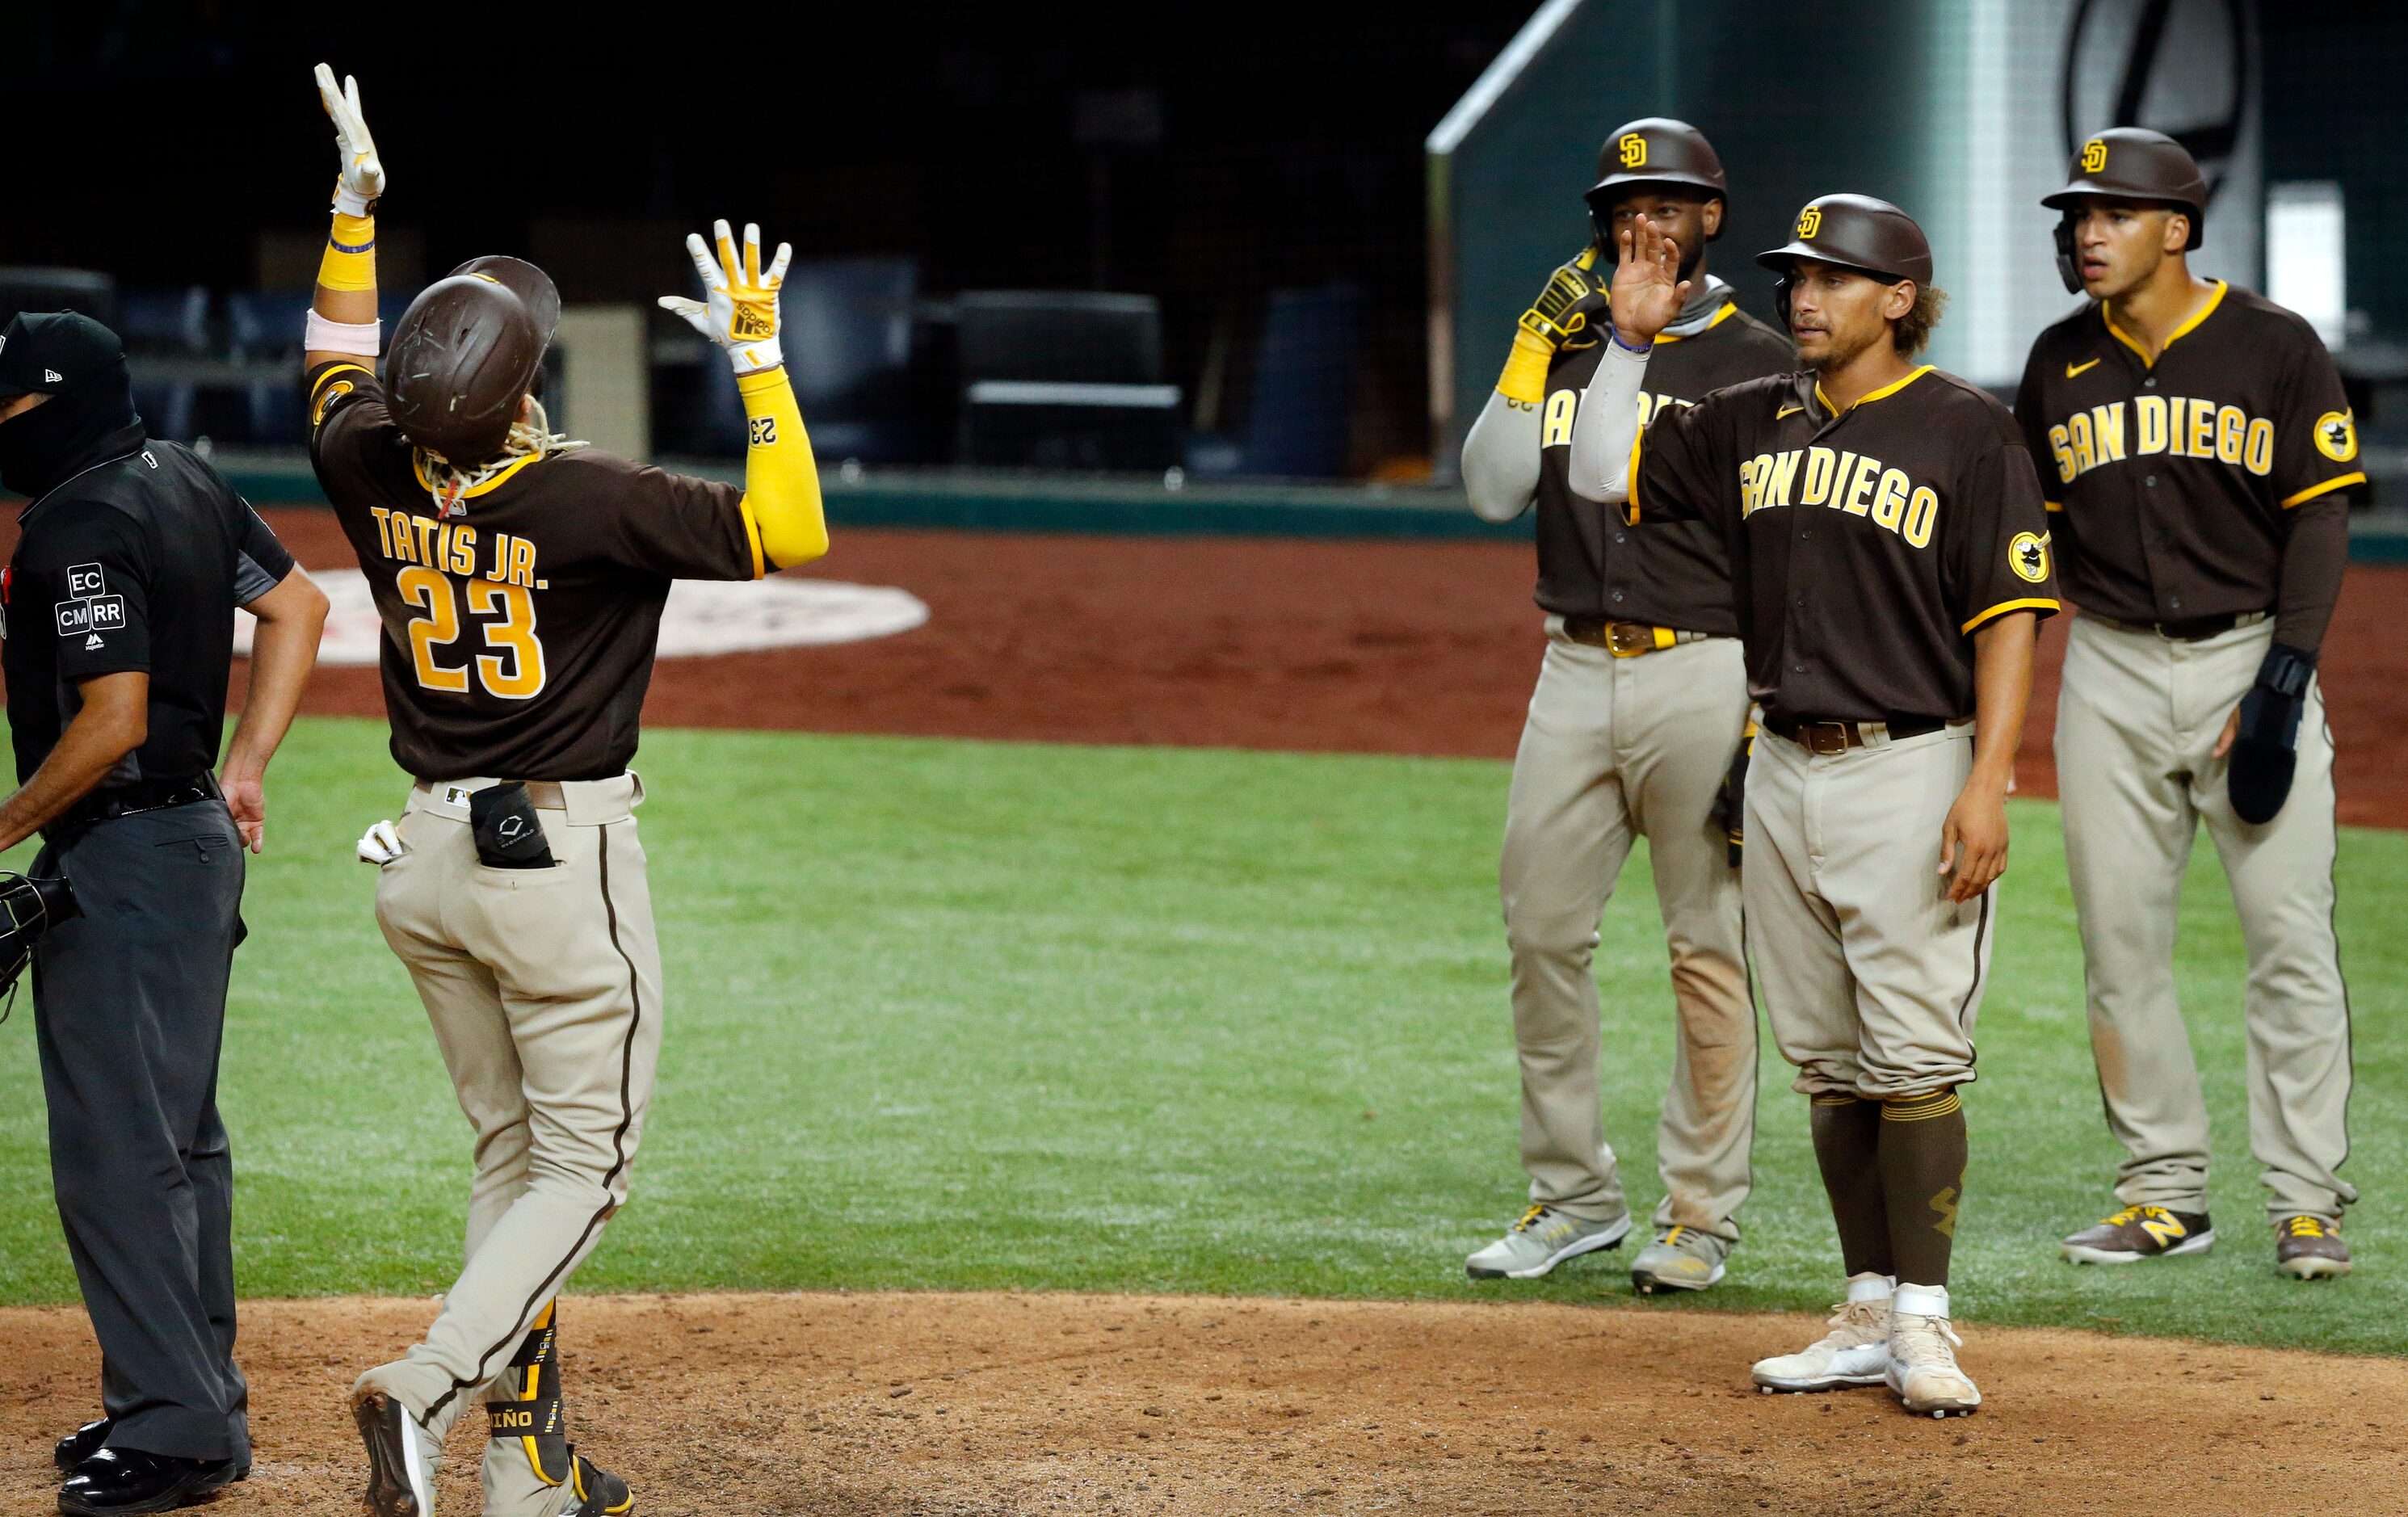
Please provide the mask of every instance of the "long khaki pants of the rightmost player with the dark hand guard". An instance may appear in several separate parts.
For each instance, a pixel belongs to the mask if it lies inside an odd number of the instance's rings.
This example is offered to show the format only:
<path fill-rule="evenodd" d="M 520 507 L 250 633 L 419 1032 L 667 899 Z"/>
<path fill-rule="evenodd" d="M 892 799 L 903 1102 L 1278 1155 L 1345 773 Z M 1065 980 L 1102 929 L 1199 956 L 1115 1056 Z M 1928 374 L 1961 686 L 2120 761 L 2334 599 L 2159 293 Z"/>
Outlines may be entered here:
<path fill-rule="evenodd" d="M 2249 1149 L 2278 1221 L 2341 1221 L 2350 1153 L 2350 1004 L 2333 942 L 2333 734 L 2309 684 L 2300 768 L 2266 826 L 2232 814 L 2215 739 L 2256 679 L 2273 624 L 2174 643 L 2081 616 L 2056 698 L 2066 867 L 2083 932 L 2090 1052 L 2129 1158 L 2117 1197 L 2208 1209 L 2208 1108 L 2174 999 L 2174 920 L 2191 838 L 2232 881 L 2249 951 Z"/>

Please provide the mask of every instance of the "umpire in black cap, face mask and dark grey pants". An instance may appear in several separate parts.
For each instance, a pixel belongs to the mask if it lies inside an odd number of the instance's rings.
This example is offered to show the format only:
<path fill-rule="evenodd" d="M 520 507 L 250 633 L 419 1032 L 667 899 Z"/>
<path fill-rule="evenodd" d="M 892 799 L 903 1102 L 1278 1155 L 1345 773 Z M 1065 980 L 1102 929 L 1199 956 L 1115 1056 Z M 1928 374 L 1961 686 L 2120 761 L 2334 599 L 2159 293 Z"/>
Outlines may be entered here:
<path fill-rule="evenodd" d="M 51 1180 L 101 1344 L 101 1418 L 55 1450 L 63 1512 L 166 1512 L 250 1469 L 234 1363 L 234 1161 L 217 1115 L 243 848 L 318 662 L 325 597 L 190 450 L 154 441 L 125 352 L 67 311 L 0 332 L 0 580 L 19 790 L 82 917 L 34 951 Z M 234 607 L 260 619 L 224 749 Z"/>

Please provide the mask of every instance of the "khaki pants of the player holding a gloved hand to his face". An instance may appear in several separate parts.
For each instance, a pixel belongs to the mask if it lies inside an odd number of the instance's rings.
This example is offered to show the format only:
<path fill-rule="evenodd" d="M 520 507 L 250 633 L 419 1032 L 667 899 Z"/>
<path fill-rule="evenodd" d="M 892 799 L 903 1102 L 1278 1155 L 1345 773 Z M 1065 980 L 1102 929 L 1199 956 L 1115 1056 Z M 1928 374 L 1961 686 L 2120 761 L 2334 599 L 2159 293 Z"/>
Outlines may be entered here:
<path fill-rule="evenodd" d="M 1739 638 L 1613 657 L 1548 621 L 1500 867 L 1531 1202 L 1592 1221 L 1625 1211 L 1604 1132 L 1589 961 L 1630 843 L 1645 836 L 1681 1026 L 1657 1127 L 1654 1221 L 1739 1238 L 1755 1134 L 1755 1002 L 1739 881 L 1707 811 L 1746 722 Z"/>

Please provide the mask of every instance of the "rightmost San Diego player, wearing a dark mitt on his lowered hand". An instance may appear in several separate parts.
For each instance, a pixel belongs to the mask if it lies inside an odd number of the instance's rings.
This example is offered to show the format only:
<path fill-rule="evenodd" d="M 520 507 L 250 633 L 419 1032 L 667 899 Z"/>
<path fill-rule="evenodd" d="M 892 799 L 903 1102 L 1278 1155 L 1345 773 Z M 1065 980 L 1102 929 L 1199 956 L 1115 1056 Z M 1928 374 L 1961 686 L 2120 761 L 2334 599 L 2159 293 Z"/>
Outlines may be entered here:
<path fill-rule="evenodd" d="M 2208 1108 L 2174 999 L 2206 821 L 2249 946 L 2249 1146 L 2276 1267 L 2348 1274 L 2350 1004 L 2333 944 L 2333 737 L 2316 691 L 2357 426 L 2316 332 L 2191 275 L 2206 183 L 2172 137 L 2100 132 L 2064 212 L 2090 296 L 2032 344 L 2015 414 L 2081 604 L 2056 703 L 2090 1050 L 2129 1158 L 2121 1209 L 2064 1240 L 2126 1264 L 2206 1250 Z"/>

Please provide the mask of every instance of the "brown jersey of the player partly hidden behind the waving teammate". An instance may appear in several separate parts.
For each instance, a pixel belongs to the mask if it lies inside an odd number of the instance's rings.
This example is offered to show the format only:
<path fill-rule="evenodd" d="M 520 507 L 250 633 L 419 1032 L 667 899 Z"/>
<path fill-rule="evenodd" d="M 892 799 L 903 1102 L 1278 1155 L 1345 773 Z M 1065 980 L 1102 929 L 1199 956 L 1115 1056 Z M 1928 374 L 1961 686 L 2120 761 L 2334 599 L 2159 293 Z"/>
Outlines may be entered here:
<path fill-rule="evenodd" d="M 1599 301 L 1592 323 L 1604 320 Z M 1597 332 L 1597 325 L 1589 330 Z M 1582 347 L 1565 344 L 1546 371 L 1539 433 L 1539 607 L 1558 616 L 1736 636 L 1731 561 L 1714 527 L 1681 523 L 1633 532 L 1616 520 L 1618 513 L 1572 494 L 1572 421 L 1604 349 L 1604 337 Z M 1724 385 L 1792 368 L 1796 349 L 1789 340 L 1727 303 L 1702 332 L 1657 337 L 1647 359 L 1647 390 L 1640 395 L 1640 426 L 1669 405 L 1695 405 Z"/>

